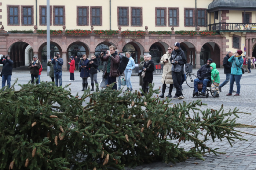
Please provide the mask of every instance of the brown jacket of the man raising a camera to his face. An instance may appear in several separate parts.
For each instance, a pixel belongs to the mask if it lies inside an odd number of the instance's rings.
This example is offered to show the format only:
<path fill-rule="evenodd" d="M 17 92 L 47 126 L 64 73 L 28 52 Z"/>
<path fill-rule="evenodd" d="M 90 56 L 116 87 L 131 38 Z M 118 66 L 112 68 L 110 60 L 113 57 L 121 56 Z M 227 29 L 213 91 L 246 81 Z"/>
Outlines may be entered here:
<path fill-rule="evenodd" d="M 111 54 L 110 57 L 108 57 L 108 56 L 100 57 L 100 59 L 102 61 L 106 61 L 106 62 L 108 62 L 109 58 L 110 58 L 110 73 L 109 73 L 109 76 L 110 77 L 120 76 L 120 72 L 118 71 L 118 67 L 120 65 L 120 57 L 118 56 L 117 52 L 115 52 L 114 54 Z M 106 71 L 105 71 L 104 74 L 107 74 L 107 68 L 106 68 Z"/>

